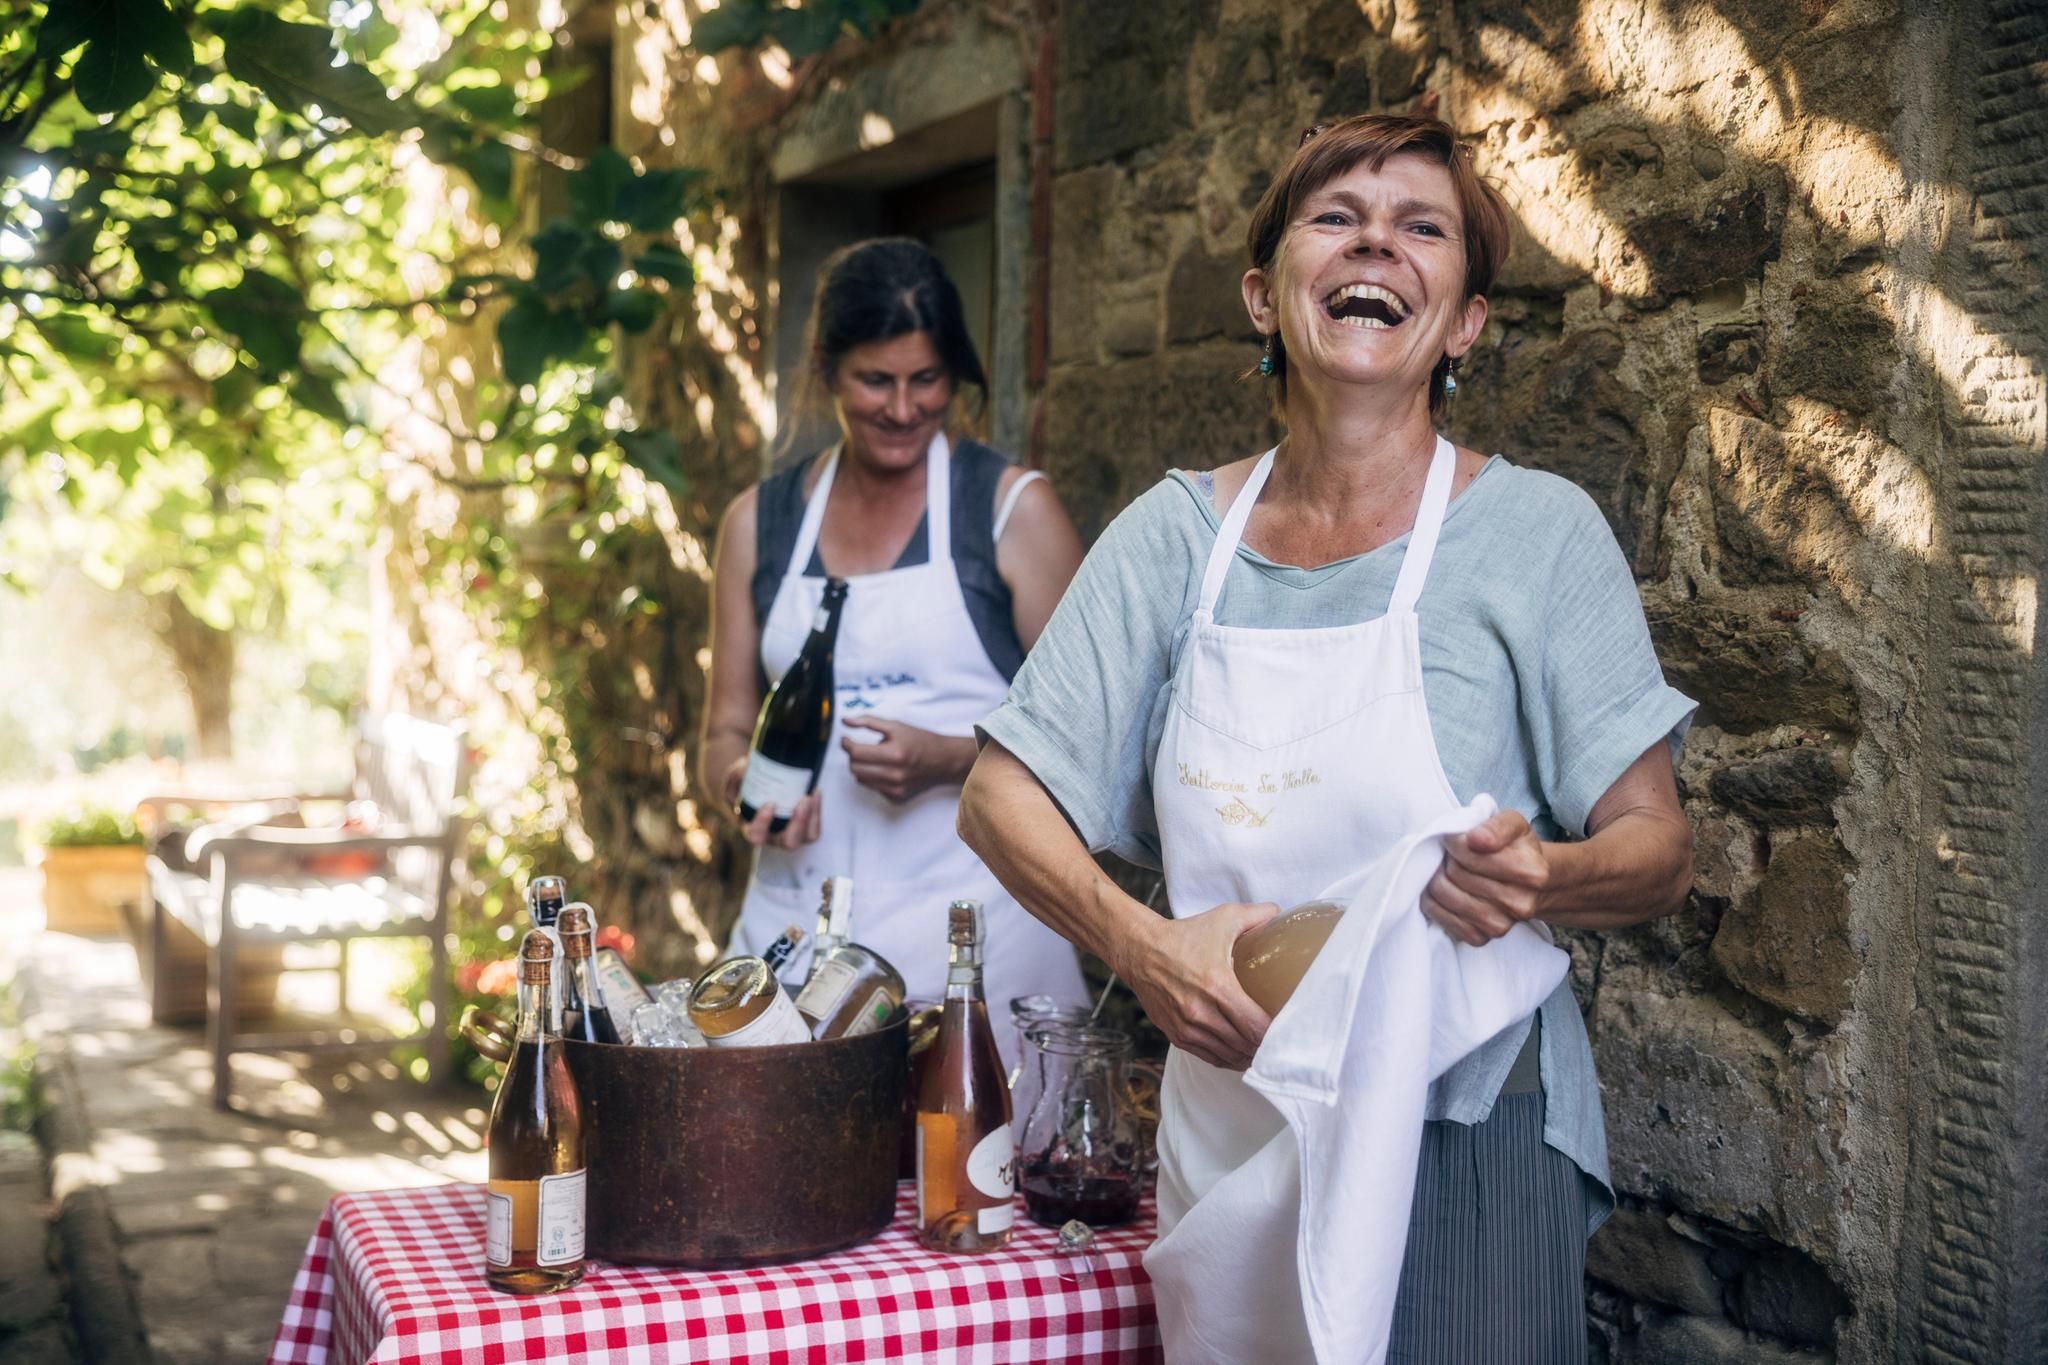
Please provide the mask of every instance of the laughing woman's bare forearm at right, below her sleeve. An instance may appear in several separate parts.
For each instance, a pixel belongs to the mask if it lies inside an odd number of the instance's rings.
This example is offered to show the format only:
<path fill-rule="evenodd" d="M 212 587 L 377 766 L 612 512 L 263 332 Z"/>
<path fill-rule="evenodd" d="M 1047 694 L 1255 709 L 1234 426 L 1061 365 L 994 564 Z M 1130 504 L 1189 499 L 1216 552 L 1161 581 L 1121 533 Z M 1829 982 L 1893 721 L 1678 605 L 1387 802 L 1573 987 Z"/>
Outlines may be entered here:
<path fill-rule="evenodd" d="M 1692 829 L 1683 814 L 1640 808 L 1589 839 L 1544 845 L 1550 864 L 1536 919 L 1563 929 L 1624 929 L 1669 915 L 1692 888 Z"/>

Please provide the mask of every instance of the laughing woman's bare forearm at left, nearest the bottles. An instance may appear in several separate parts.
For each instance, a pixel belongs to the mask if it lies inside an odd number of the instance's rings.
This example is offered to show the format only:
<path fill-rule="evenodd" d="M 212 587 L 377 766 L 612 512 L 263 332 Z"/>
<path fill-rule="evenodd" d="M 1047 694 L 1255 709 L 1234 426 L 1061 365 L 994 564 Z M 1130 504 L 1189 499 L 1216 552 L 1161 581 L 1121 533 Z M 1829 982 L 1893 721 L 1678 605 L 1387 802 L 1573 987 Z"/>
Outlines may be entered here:
<path fill-rule="evenodd" d="M 961 792 L 961 839 L 1026 911 L 1069 943 L 1122 970 L 1159 917 L 1126 896 L 1067 825 L 1038 778 L 997 743 L 981 749 Z"/>

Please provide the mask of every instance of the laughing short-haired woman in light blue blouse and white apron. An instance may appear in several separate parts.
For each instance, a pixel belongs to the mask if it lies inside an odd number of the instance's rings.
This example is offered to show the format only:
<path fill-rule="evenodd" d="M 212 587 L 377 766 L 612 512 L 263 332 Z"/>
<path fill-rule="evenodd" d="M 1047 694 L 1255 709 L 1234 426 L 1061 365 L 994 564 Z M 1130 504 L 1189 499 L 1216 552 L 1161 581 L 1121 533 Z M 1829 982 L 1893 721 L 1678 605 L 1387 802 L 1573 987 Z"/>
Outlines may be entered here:
<path fill-rule="evenodd" d="M 1683 902 L 1694 708 L 1595 503 L 1436 430 L 1507 254 L 1452 129 L 1311 129 L 1247 246 L 1286 438 L 1104 532 L 961 831 L 1174 1044 L 1169 1359 L 1577 1363 L 1614 1197 L 1548 925 Z M 1171 917 L 1092 849 L 1161 866 Z M 1350 909 L 1268 1017 L 1233 948 L 1315 896 Z"/>

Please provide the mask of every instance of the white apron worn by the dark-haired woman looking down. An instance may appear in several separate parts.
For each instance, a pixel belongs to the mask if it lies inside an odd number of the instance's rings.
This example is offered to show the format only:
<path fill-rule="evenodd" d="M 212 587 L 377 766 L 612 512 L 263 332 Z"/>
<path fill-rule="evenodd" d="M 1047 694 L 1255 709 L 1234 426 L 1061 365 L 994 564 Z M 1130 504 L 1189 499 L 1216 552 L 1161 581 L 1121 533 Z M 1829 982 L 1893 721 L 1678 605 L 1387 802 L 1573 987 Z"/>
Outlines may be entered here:
<path fill-rule="evenodd" d="M 788 569 L 762 626 L 762 667 L 770 681 L 797 661 L 825 596 L 825 579 L 805 577 L 803 571 L 817 548 L 838 467 L 840 452 L 834 450 L 803 510 Z M 981 900 L 987 911 L 983 980 L 995 1042 L 1010 1064 L 1016 1050 L 1006 1025 L 1012 997 L 1044 993 L 1063 1001 L 1085 999 L 1073 945 L 1032 919 L 961 843 L 954 833 L 961 788 L 934 786 L 907 802 L 891 802 L 854 782 L 840 747 L 842 735 L 852 735 L 854 743 L 877 739 L 874 731 L 840 724 L 856 716 L 967 737 L 1010 692 L 981 647 L 952 567 L 952 448 L 944 434 L 934 436 L 926 450 L 924 505 L 926 563 L 848 579 L 834 649 L 838 708 L 825 767 L 817 776 L 823 798 L 819 837 L 795 851 L 758 851 L 727 952 L 758 954 L 793 923 L 809 933 L 825 878 L 850 874 L 854 939 L 903 972 L 909 999 L 938 1001 L 946 995 L 946 905 L 963 896 Z M 801 980 L 809 952 L 805 939 L 784 976 Z"/>

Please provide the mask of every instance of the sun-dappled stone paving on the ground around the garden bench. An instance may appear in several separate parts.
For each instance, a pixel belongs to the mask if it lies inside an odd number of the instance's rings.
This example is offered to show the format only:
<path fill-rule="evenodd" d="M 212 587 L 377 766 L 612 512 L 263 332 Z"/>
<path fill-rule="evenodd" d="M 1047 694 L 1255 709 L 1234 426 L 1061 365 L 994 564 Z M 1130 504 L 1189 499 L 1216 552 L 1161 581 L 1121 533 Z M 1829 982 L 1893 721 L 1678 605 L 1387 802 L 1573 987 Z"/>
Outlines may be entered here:
<path fill-rule="evenodd" d="M 203 1029 L 150 1023 L 125 939 L 41 933 L 20 872 L 0 872 L 0 941 L 29 984 L 25 1027 L 82 1134 L 53 1158 L 55 1199 L 104 1191 L 111 1269 L 133 1285 L 158 1365 L 264 1359 L 330 1195 L 483 1179 L 481 1095 L 416 1085 L 375 1052 L 240 1056 L 236 1109 L 221 1113 Z M 332 999 L 332 976 L 305 980 Z"/>

